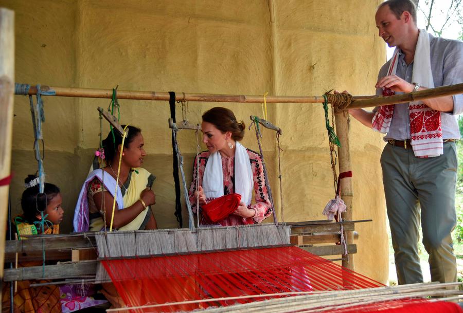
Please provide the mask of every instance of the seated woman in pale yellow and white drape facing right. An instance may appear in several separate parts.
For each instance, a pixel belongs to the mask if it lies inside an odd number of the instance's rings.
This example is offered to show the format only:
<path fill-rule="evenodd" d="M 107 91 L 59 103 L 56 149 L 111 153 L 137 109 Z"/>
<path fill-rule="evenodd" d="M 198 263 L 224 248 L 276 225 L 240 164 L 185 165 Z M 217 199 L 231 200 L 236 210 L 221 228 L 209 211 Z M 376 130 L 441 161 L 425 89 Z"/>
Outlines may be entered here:
<path fill-rule="evenodd" d="M 116 207 L 113 229 L 157 228 L 156 219 L 150 210 L 150 206 L 156 203 L 155 194 L 151 190 L 155 177 L 141 168 L 146 156 L 143 136 L 141 130 L 134 126 L 128 126 L 126 131 L 128 134 L 123 146 L 122 136 L 116 131 L 110 132 L 103 140 L 106 166 L 92 171 L 85 179 L 74 211 L 75 232 L 109 228 L 114 198 Z M 120 156 L 120 174 L 115 192 Z"/>

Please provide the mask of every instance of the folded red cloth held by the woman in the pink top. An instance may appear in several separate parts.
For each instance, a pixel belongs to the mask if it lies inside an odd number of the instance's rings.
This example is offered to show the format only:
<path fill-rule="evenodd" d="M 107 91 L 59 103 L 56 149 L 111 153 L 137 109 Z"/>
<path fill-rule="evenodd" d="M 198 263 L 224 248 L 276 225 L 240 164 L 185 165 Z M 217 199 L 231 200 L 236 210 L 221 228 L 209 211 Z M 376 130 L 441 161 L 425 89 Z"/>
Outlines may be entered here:
<path fill-rule="evenodd" d="M 230 193 L 219 198 L 213 199 L 208 204 L 202 206 L 204 217 L 212 223 L 220 222 L 228 217 L 240 205 L 241 195 Z"/>

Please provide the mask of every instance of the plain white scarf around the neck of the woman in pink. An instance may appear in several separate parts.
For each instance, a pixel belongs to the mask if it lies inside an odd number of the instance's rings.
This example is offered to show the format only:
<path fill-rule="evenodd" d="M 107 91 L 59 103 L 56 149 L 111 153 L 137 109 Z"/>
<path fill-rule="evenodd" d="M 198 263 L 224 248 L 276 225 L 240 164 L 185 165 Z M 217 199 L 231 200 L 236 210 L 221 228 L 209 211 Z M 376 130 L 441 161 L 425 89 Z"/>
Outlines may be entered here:
<path fill-rule="evenodd" d="M 241 201 L 246 206 L 251 204 L 254 178 L 251 170 L 251 162 L 246 148 L 235 143 L 235 192 L 241 195 Z M 215 199 L 223 196 L 223 171 L 222 156 L 220 152 L 214 152 L 209 156 L 204 169 L 203 191 L 206 199 Z"/>

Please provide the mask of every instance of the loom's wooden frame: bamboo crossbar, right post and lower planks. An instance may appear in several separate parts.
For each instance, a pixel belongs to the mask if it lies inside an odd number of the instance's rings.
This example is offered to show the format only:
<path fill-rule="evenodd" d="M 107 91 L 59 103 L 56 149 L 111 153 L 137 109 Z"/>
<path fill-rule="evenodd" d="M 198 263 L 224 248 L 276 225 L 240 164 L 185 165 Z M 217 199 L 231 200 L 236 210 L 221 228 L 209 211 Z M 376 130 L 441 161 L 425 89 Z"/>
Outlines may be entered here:
<path fill-rule="evenodd" d="M 55 93 L 50 96 L 63 96 L 63 97 L 94 97 L 94 98 L 111 98 L 112 90 L 111 89 L 88 89 L 88 88 L 61 88 L 61 87 L 48 87 L 42 86 L 41 90 L 43 91 L 52 91 Z M 435 91 L 435 92 L 434 92 Z M 396 95 L 391 97 L 378 98 L 376 96 L 361 96 L 353 97 L 354 101 L 347 107 L 368 107 L 371 105 L 387 105 L 395 102 L 406 102 L 411 100 L 418 99 L 427 99 L 434 98 L 436 95 L 449 95 L 456 94 L 463 91 L 463 84 L 451 85 L 451 86 L 442 86 L 434 89 L 426 89 L 422 91 L 416 91 L 410 94 Z M 37 87 L 30 87 L 28 91 L 29 95 L 37 94 Z M 156 93 L 149 91 L 118 91 L 118 98 L 120 95 L 123 95 L 123 99 L 134 99 L 134 100 L 159 100 L 166 101 L 165 95 L 167 93 Z M 260 103 L 263 101 L 263 96 L 244 96 L 244 95 L 212 95 L 212 94 L 176 94 L 177 101 L 204 101 L 204 102 L 244 102 L 244 103 Z M 180 95 L 183 95 L 180 96 Z M 323 99 L 323 100 L 322 100 Z M 281 97 L 273 96 L 266 98 L 267 102 L 275 103 L 282 101 L 282 103 L 290 102 L 316 102 L 320 103 L 324 101 L 324 97 L 299 97 L 299 96 L 290 96 L 290 97 Z M 337 136 L 340 139 L 341 147 L 338 148 L 338 158 L 339 158 L 339 171 L 347 172 L 351 168 L 350 164 L 350 150 L 349 150 L 349 132 L 347 124 L 347 110 L 346 108 L 335 110 L 335 123 L 337 129 Z M 11 153 L 11 151 L 10 151 Z M 354 224 L 355 222 L 367 222 L 368 220 L 353 221 L 352 220 L 352 182 L 351 178 L 344 178 L 341 180 L 341 198 L 343 198 L 348 210 L 343 214 L 344 222 L 344 231 L 345 238 L 347 242 L 347 249 L 349 253 L 357 252 L 357 247 L 353 244 L 354 240 Z M 2 208 L 0 208 L 2 209 Z M 340 223 L 326 223 L 326 222 L 300 222 L 293 223 L 292 226 L 292 243 L 297 245 L 302 245 L 303 248 L 309 252 L 318 254 L 318 255 L 339 255 L 342 254 L 343 247 L 341 246 L 321 246 L 321 247 L 304 247 L 307 245 L 312 245 L 314 243 L 327 243 L 327 242 L 337 242 L 339 241 L 338 235 L 333 234 L 319 234 L 325 232 L 336 232 L 340 229 Z M 62 241 L 60 244 L 51 244 L 54 239 L 52 237 L 60 238 Z M 88 243 L 82 244 L 80 240 L 76 239 L 76 236 L 83 236 L 84 241 L 88 241 L 92 235 L 90 233 L 85 234 L 71 234 L 71 235 L 44 235 L 43 237 L 38 237 L 40 243 L 45 242 L 45 247 L 47 250 L 53 251 L 50 253 L 49 257 L 60 259 L 62 256 L 69 255 L 69 250 L 73 249 L 88 249 Z M 66 238 L 66 240 L 64 240 Z M 24 260 L 37 260 L 38 255 L 42 249 L 37 249 L 37 245 L 28 245 L 32 243 L 33 240 L 30 238 L 26 242 L 21 243 L 8 243 L 6 251 L 8 252 L 7 260 L 11 260 L 11 253 L 23 253 Z M 49 244 L 50 243 L 50 244 Z M 66 243 L 63 246 L 63 243 Z M 3 243 L 5 245 L 5 243 Z M 35 248 L 34 248 L 35 246 Z M 42 245 L 40 245 L 41 247 Z M 90 247 L 93 247 L 91 244 Z M 62 249 L 67 249 L 68 252 L 59 251 Z M 92 248 L 91 248 L 92 249 Z M 58 250 L 58 251 L 57 251 Z M 72 252 L 70 252 L 72 254 Z M 92 254 L 92 253 L 90 253 Z M 77 256 L 78 253 L 74 252 L 74 260 L 78 261 L 80 256 Z M 59 265 L 50 265 L 46 266 L 47 278 L 64 278 L 64 277 L 73 277 L 72 273 L 79 275 L 88 275 L 92 274 L 91 264 L 97 261 L 84 261 L 84 263 L 72 263 L 72 264 L 59 264 Z M 350 255 L 349 260 L 343 259 L 342 265 L 348 269 L 354 270 L 354 260 L 353 256 Z M 96 265 L 95 265 L 96 266 Z M 20 279 L 33 279 L 33 278 L 42 278 L 42 267 L 39 268 L 21 268 L 21 269 L 11 269 L 7 270 L 7 275 L 5 275 L 5 281 L 13 281 Z M 55 274 L 54 274 L 55 273 Z M 63 273 L 68 276 L 63 276 Z M 75 275 L 74 275 L 75 276 Z"/>

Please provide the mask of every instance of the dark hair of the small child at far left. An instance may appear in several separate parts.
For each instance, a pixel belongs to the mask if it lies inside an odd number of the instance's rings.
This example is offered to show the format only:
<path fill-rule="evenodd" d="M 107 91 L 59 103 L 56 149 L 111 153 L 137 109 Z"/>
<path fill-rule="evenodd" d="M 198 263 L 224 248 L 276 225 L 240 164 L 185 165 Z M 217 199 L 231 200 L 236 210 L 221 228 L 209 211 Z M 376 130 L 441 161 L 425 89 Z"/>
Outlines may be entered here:
<path fill-rule="evenodd" d="M 24 182 L 30 183 L 32 180 L 37 178 L 35 175 L 27 175 Z M 60 189 L 53 185 L 52 183 L 45 183 L 43 188 L 43 194 L 39 194 L 39 184 L 27 188 L 21 197 L 21 208 L 23 209 L 24 219 L 29 223 L 33 223 L 37 220 L 37 214 L 40 214 L 41 211 L 45 211 L 47 204 L 53 199 L 57 194 L 60 193 Z"/>

